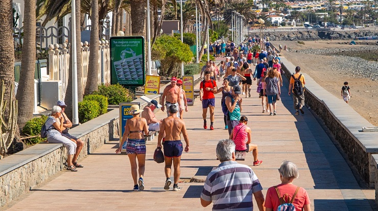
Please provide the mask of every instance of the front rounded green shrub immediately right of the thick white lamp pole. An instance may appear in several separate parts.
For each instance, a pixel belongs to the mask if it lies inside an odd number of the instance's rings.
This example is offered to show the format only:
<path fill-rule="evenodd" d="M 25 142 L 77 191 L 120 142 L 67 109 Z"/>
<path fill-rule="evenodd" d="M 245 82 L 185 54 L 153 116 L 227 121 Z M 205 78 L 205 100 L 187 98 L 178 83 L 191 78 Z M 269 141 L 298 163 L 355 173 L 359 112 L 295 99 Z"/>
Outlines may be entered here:
<path fill-rule="evenodd" d="M 80 123 L 88 122 L 90 119 L 100 115 L 100 104 L 95 100 L 83 100 L 79 103 Z"/>

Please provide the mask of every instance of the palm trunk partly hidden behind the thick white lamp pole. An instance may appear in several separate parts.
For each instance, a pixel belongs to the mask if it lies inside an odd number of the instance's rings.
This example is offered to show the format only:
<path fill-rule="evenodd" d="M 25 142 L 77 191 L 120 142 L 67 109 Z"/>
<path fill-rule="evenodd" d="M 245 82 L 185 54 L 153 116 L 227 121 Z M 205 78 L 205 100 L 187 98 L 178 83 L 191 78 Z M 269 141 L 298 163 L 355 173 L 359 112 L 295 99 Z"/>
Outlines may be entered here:
<path fill-rule="evenodd" d="M 80 0 L 76 0 L 76 57 L 77 57 L 77 71 L 78 71 L 78 102 L 81 102 L 83 100 L 83 88 L 82 88 L 82 70 L 81 70 L 81 25 L 80 25 Z M 71 20 L 74 21 L 74 20 Z M 72 36 L 72 35 L 71 35 Z M 71 39 L 72 40 L 72 39 Z M 71 45 L 74 45 L 74 43 L 71 43 Z M 70 49 L 72 50 L 72 48 Z M 70 53 L 70 56 L 74 56 L 72 54 L 72 51 Z M 68 118 L 69 116 L 73 116 L 72 112 L 72 97 L 73 97 L 73 90 L 72 90 L 72 58 L 69 59 L 69 72 L 68 72 L 68 83 L 67 83 L 67 89 L 66 94 L 64 98 L 64 102 L 67 105 L 65 109 L 65 113 L 67 114 Z"/>

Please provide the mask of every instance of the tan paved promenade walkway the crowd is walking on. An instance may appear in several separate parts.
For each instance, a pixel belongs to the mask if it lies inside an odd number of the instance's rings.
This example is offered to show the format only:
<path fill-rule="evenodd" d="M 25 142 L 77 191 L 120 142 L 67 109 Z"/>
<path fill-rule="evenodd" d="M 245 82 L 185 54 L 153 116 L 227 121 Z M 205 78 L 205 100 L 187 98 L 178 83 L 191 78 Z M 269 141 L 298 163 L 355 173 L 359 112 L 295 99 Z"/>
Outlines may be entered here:
<path fill-rule="evenodd" d="M 252 128 L 253 143 L 258 145 L 261 166 L 252 166 L 252 155 L 247 154 L 242 164 L 251 166 L 257 174 L 263 192 L 280 183 L 277 169 L 283 160 L 290 160 L 299 168 L 294 184 L 305 188 L 311 199 L 312 210 L 374 210 L 374 190 L 362 190 L 350 168 L 329 140 L 308 109 L 304 115 L 293 115 L 292 99 L 287 95 L 284 81 L 282 101 L 276 116 L 262 113 L 261 100 L 253 86 L 252 98 L 243 99 L 244 115 Z M 198 87 L 197 87 L 198 88 Z M 184 119 L 190 137 L 190 152 L 181 160 L 181 178 L 205 178 L 219 165 L 215 148 L 220 139 L 228 137 L 224 130 L 223 113 L 217 96 L 215 130 L 202 129 L 201 104 L 189 107 Z M 165 113 L 158 112 L 158 118 Z M 209 122 L 209 121 L 208 121 Z M 78 172 L 62 171 L 41 184 L 18 201 L 3 209 L 8 210 L 211 210 L 203 208 L 199 195 L 203 183 L 180 183 L 180 192 L 163 190 L 164 164 L 153 161 L 157 138 L 147 143 L 145 191 L 133 192 L 130 164 L 127 156 L 115 155 L 117 142 L 110 142 L 81 161 Z M 172 186 L 171 186 L 172 187 Z M 172 189 L 171 189 L 172 190 Z M 254 202 L 255 203 L 255 202 Z M 256 210 L 256 208 L 255 208 Z"/>

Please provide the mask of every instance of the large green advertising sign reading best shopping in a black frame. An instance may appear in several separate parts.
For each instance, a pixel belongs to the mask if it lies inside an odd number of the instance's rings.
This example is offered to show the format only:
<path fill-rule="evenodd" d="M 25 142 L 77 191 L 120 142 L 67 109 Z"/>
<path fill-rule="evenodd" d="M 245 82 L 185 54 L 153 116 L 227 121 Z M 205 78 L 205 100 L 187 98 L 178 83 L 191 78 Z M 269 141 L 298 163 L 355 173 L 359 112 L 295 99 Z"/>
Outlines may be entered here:
<path fill-rule="evenodd" d="M 145 85 L 145 38 L 110 38 L 111 84 Z"/>

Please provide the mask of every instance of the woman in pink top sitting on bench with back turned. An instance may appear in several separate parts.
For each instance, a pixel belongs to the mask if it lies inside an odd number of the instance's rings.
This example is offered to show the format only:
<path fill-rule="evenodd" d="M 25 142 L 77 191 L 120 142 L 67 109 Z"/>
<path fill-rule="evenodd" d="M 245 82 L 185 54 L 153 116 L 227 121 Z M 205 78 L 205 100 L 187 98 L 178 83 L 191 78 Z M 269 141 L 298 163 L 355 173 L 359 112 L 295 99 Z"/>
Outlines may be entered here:
<path fill-rule="evenodd" d="M 235 126 L 230 134 L 230 139 L 235 143 L 236 151 L 251 152 L 253 155 L 253 165 L 258 166 L 263 163 L 263 161 L 257 160 L 258 150 L 257 145 L 251 144 L 252 131 L 247 127 L 248 118 L 247 116 L 241 116 L 239 125 Z M 246 142 L 246 140 L 248 140 Z"/>

